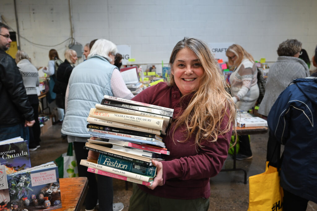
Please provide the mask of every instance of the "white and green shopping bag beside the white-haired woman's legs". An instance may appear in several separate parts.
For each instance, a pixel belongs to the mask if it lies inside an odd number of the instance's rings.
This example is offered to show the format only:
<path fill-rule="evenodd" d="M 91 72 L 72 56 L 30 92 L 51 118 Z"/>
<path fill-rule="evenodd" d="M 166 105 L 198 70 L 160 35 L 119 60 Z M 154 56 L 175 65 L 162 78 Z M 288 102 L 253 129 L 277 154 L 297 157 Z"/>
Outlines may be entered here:
<path fill-rule="evenodd" d="M 60 178 L 78 177 L 78 167 L 73 150 L 73 143 L 68 144 L 67 152 L 55 160 Z"/>

